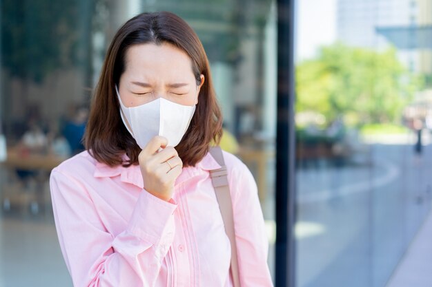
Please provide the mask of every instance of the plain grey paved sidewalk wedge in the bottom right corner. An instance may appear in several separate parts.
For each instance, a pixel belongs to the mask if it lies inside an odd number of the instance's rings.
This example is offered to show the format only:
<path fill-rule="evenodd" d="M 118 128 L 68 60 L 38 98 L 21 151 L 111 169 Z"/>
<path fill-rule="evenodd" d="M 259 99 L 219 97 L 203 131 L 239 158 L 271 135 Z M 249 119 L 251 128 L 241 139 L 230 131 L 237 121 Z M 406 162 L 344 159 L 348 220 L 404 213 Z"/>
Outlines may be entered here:
<path fill-rule="evenodd" d="M 432 287 L 432 212 L 386 287 Z"/>

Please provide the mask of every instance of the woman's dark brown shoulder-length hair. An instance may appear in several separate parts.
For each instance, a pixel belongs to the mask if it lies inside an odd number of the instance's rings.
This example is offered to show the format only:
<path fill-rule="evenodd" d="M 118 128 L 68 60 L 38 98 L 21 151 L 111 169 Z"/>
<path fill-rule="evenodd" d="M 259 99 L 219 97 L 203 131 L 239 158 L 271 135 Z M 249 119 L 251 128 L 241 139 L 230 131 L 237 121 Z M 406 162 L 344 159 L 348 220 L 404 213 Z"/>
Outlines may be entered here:
<path fill-rule="evenodd" d="M 84 141 L 90 155 L 109 166 L 138 164 L 141 149 L 129 134 L 120 117 L 115 85 L 125 70 L 126 52 L 132 45 L 170 43 L 186 52 L 192 60 L 192 70 L 201 83 L 195 114 L 186 134 L 175 149 L 184 167 L 195 166 L 202 160 L 210 142 L 219 144 L 222 136 L 222 114 L 217 104 L 206 52 L 197 34 L 180 17 L 170 12 L 142 13 L 127 21 L 115 34 L 108 48 L 99 83 L 93 94 Z M 130 158 L 128 162 L 122 156 Z"/>

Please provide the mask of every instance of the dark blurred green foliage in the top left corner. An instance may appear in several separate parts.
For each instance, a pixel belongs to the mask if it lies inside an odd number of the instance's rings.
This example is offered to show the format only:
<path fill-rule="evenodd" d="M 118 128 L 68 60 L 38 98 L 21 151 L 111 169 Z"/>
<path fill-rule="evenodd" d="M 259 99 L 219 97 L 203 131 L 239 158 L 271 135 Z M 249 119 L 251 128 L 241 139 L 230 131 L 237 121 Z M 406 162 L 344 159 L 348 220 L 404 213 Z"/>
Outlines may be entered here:
<path fill-rule="evenodd" d="M 40 83 L 66 65 L 86 65 L 94 0 L 1 1 L 2 67 Z"/>

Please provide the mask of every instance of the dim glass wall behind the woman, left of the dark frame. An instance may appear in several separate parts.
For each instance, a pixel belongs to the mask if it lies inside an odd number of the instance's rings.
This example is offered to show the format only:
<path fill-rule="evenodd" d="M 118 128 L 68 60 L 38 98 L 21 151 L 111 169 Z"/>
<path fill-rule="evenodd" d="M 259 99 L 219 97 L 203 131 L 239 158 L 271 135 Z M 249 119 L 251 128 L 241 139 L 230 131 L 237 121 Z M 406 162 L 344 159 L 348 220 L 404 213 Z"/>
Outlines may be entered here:
<path fill-rule="evenodd" d="M 169 10 L 195 29 L 224 113 L 222 148 L 253 171 L 273 272 L 277 31 L 271 0 L 0 1 L 0 286 L 72 286 L 50 170 L 83 150 L 88 103 L 115 31 Z"/>

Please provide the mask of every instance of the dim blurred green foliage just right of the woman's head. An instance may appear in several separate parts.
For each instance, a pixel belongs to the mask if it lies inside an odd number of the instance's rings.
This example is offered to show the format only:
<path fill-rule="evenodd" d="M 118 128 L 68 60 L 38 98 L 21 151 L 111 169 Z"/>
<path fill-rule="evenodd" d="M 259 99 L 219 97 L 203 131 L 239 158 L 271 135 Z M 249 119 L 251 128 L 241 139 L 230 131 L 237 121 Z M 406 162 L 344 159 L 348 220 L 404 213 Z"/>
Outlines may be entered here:
<path fill-rule="evenodd" d="M 271 0 L 146 0 L 143 5 L 146 11 L 179 15 L 197 32 L 210 62 L 235 66 L 243 61 L 243 39 L 256 36 L 255 29 L 263 32 Z"/>

